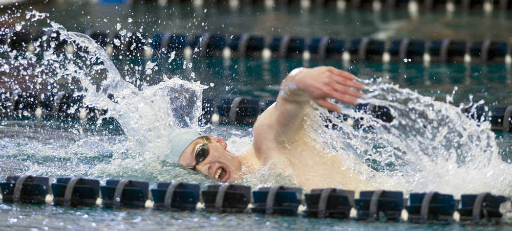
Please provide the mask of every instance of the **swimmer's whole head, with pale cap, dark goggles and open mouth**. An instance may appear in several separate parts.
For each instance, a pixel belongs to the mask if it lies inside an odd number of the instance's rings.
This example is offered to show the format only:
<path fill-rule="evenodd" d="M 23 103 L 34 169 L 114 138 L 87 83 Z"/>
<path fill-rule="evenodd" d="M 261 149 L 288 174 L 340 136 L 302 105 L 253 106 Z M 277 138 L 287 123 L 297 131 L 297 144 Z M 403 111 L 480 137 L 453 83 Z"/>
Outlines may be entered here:
<path fill-rule="evenodd" d="M 222 138 L 195 131 L 182 131 L 174 135 L 171 160 L 220 181 L 240 178 L 242 161 L 226 150 Z"/>

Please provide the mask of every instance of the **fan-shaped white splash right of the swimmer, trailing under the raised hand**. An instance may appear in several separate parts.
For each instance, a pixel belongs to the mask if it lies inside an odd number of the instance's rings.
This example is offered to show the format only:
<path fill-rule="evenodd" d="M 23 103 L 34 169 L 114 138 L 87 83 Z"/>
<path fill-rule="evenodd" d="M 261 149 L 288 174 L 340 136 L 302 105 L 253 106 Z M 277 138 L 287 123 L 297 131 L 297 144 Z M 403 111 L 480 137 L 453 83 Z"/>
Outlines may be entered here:
<path fill-rule="evenodd" d="M 312 138 L 322 148 L 366 160 L 380 173 L 361 169 L 354 161 L 349 165 L 381 182 L 383 188 L 456 195 L 483 191 L 511 194 L 510 165 L 501 160 L 489 122 L 468 119 L 460 108 L 410 89 L 372 83 L 360 102 L 390 108 L 395 120 L 385 123 L 341 105 L 344 113 L 360 118 L 361 128 L 354 128 L 317 108 L 317 114 L 339 126 L 326 129 L 321 120 L 311 125 L 311 133 L 320 134 Z"/>

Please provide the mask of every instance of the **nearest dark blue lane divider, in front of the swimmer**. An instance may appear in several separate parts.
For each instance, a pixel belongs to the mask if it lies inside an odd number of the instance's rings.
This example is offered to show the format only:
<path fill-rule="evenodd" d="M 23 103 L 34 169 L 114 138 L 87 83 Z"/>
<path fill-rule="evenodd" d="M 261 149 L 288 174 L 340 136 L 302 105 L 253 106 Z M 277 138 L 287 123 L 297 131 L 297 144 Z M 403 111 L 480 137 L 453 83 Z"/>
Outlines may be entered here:
<path fill-rule="evenodd" d="M 201 190 L 199 184 L 185 182 L 161 182 L 148 193 L 149 183 L 129 179 L 106 180 L 100 186 L 95 179 L 82 177 L 57 178 L 52 183 L 54 206 L 101 206 L 112 209 L 141 209 L 152 200 L 153 209 L 162 211 L 195 211 L 211 213 L 259 213 L 267 216 L 297 215 L 301 211 L 311 218 L 349 219 L 357 221 L 396 222 L 407 219 L 411 223 L 436 223 L 487 225 L 499 224 L 502 203 L 510 203 L 510 198 L 487 192 L 462 194 L 460 203 L 453 195 L 439 192 L 411 193 L 404 199 L 399 191 L 361 191 L 354 199 L 354 191 L 334 188 L 313 189 L 304 194 L 301 188 L 273 186 L 252 191 L 251 187 L 239 184 L 211 184 Z M 0 183 L 3 203 L 45 204 L 49 191 L 49 178 L 41 176 L 8 176 Z M 202 202 L 202 203 L 201 203 Z M 252 204 L 252 205 L 250 205 Z M 402 216 L 405 210 L 407 218 Z M 458 212 L 459 220 L 454 219 Z"/>

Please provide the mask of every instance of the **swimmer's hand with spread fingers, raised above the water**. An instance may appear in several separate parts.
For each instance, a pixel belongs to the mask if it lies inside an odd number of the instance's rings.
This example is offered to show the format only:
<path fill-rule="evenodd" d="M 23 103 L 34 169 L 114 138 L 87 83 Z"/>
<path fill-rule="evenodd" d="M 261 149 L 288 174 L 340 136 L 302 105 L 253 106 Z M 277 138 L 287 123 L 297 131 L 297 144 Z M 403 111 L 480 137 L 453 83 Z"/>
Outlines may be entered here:
<path fill-rule="evenodd" d="M 332 66 L 315 68 L 296 68 L 281 84 L 280 95 L 289 101 L 301 102 L 312 99 L 316 104 L 331 111 L 340 112 L 340 108 L 329 98 L 355 105 L 363 97 L 364 85 L 354 81 L 356 77 Z"/>

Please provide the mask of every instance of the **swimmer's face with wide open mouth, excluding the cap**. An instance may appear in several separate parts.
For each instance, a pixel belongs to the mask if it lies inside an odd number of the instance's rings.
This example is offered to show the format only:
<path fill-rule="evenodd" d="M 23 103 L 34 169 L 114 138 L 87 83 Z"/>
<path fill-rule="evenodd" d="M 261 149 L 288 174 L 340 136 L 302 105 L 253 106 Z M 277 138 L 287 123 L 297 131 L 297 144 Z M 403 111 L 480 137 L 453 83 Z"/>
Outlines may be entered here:
<path fill-rule="evenodd" d="M 201 145 L 205 143 L 208 143 L 208 156 L 200 163 L 197 163 L 195 154 Z M 227 143 L 222 138 L 213 136 L 197 138 L 187 146 L 178 162 L 190 168 L 196 166 L 195 171 L 219 181 L 236 181 L 240 178 L 242 161 L 237 156 L 228 152 L 226 148 Z"/>

